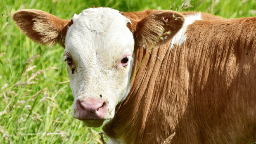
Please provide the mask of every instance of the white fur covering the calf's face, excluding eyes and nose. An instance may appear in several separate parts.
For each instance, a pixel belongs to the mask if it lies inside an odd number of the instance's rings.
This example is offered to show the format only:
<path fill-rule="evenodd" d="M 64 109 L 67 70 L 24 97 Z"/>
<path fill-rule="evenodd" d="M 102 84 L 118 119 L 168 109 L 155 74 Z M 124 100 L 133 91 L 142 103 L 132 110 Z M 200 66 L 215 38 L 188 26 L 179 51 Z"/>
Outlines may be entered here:
<path fill-rule="evenodd" d="M 102 7 L 86 9 L 72 20 L 65 53 L 74 63 L 67 64 L 74 97 L 73 116 L 79 117 L 77 100 L 96 97 L 107 102 L 104 119 L 111 119 L 116 104 L 126 98 L 130 88 L 134 49 L 133 34 L 126 26 L 130 20 L 117 10 Z M 129 59 L 127 66 L 120 65 L 123 57 Z"/>

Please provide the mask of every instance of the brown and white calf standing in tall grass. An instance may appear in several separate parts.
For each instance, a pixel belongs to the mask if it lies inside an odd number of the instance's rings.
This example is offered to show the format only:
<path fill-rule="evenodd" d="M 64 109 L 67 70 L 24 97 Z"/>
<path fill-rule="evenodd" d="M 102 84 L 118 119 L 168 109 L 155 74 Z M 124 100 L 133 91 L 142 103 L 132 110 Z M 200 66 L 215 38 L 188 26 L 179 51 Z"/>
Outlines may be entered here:
<path fill-rule="evenodd" d="M 24 9 L 14 21 L 65 47 L 73 117 L 105 121 L 111 144 L 160 144 L 173 132 L 172 144 L 256 142 L 255 17 L 100 7 L 71 20 Z"/>

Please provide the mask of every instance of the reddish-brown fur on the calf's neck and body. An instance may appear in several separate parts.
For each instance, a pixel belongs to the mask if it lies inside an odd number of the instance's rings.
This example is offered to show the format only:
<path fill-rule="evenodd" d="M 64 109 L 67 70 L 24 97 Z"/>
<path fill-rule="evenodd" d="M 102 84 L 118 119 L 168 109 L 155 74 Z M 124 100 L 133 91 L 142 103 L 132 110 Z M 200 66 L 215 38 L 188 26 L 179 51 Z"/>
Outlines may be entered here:
<path fill-rule="evenodd" d="M 256 18 L 202 19 L 187 27 L 183 45 L 154 47 L 107 135 L 125 144 L 160 144 L 173 132 L 172 144 L 256 142 Z M 145 51 L 135 47 L 134 68 Z"/>

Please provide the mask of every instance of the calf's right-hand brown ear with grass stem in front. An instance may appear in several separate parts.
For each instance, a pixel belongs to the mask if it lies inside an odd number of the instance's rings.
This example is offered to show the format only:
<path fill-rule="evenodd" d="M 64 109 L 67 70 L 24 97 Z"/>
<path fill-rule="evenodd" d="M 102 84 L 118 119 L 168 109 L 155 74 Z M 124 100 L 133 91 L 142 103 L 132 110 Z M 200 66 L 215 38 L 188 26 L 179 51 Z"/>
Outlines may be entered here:
<path fill-rule="evenodd" d="M 153 44 L 161 34 L 162 38 L 157 40 L 157 44 L 166 42 L 182 28 L 184 20 L 185 17 L 175 11 L 152 12 L 137 23 L 133 34 L 135 41 L 138 41 L 135 44 Z"/>

